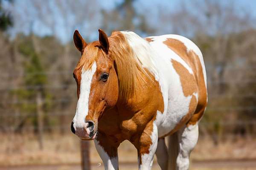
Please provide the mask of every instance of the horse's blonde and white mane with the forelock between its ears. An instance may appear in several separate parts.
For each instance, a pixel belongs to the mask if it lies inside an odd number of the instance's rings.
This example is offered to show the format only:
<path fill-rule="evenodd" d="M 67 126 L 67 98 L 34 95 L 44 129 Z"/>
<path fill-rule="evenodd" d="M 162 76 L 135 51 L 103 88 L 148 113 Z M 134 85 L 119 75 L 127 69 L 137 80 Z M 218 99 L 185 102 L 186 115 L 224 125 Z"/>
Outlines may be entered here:
<path fill-rule="evenodd" d="M 129 100 L 136 97 L 137 88 L 143 88 L 146 83 L 154 82 L 157 74 L 151 61 L 151 47 L 146 40 L 133 32 L 114 31 L 108 37 L 109 52 L 113 57 L 119 83 L 119 99 Z M 137 43 L 131 43 L 137 41 Z M 90 69 L 96 61 L 99 42 L 95 41 L 86 46 L 86 51 L 75 69 Z"/>

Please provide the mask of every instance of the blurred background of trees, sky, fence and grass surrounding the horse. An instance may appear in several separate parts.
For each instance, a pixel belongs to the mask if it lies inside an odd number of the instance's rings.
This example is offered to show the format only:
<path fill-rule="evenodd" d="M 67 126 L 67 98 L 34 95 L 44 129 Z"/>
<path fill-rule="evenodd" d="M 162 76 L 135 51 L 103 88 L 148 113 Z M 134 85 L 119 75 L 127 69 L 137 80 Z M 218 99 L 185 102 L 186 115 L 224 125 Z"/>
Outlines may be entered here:
<path fill-rule="evenodd" d="M 253 0 L 0 0 L 0 170 L 104 169 L 93 142 L 70 131 L 80 57 L 73 32 L 90 42 L 99 28 L 193 40 L 209 104 L 191 169 L 256 169 L 255 8 Z M 137 169 L 129 142 L 119 164 Z"/>

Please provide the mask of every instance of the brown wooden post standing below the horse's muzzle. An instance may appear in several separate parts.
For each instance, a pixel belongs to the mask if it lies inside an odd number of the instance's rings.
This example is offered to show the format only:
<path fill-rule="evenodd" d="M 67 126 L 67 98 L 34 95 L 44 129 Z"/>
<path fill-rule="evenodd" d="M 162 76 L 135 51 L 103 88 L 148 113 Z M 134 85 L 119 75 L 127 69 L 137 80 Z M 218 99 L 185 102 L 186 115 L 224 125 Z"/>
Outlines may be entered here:
<path fill-rule="evenodd" d="M 90 142 L 81 141 L 81 166 L 82 170 L 90 170 Z"/>

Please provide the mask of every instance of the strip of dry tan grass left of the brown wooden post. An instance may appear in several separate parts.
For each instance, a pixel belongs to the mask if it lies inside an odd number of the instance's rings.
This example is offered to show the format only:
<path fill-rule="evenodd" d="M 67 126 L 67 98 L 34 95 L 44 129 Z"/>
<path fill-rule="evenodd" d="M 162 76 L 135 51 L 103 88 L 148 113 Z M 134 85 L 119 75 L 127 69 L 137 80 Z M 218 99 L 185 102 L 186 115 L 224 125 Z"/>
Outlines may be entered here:
<path fill-rule="evenodd" d="M 45 135 L 44 149 L 40 150 L 33 135 L 2 135 L 0 164 L 55 164 L 80 161 L 79 141 L 75 136 Z"/>

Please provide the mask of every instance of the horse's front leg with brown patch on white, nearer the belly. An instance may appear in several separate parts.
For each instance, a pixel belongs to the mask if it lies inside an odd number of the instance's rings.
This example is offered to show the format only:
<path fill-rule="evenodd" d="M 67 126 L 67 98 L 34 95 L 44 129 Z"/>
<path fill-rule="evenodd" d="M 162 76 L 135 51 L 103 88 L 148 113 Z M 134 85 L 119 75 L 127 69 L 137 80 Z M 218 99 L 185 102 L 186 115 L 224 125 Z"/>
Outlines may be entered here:
<path fill-rule="evenodd" d="M 157 140 L 157 126 L 154 122 L 149 122 L 140 136 L 137 147 L 139 170 L 151 170 L 157 149 Z"/>

